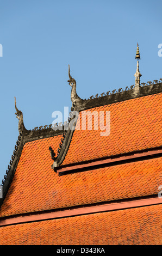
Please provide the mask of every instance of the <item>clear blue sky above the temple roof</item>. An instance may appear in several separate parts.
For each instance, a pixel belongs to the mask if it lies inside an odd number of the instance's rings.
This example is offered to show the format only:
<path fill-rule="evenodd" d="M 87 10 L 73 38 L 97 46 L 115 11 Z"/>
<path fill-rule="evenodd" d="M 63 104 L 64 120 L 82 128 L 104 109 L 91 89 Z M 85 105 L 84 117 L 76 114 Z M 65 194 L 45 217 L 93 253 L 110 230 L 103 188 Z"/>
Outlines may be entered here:
<path fill-rule="evenodd" d="M 161 10 L 161 0 L 0 0 L 1 181 L 18 137 L 14 96 L 26 129 L 51 124 L 71 107 L 68 64 L 82 99 L 125 89 L 137 42 L 141 82 L 159 80 Z"/>

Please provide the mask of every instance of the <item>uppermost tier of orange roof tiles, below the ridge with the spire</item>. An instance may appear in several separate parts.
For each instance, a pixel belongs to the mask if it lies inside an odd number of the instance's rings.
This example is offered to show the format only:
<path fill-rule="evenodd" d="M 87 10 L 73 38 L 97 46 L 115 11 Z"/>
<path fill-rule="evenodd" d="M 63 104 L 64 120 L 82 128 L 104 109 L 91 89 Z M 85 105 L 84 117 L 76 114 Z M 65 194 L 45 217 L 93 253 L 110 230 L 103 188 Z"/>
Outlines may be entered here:
<path fill-rule="evenodd" d="M 98 113 L 110 111 L 110 135 L 100 136 L 101 130 L 94 130 L 94 122 L 91 131 L 87 128 L 78 130 L 81 126 L 77 122 L 70 147 L 61 165 L 161 146 L 161 95 L 162 93 L 153 94 L 88 109 Z M 81 125 L 85 112 L 81 112 Z M 102 119 L 99 123 L 102 124 Z"/>

